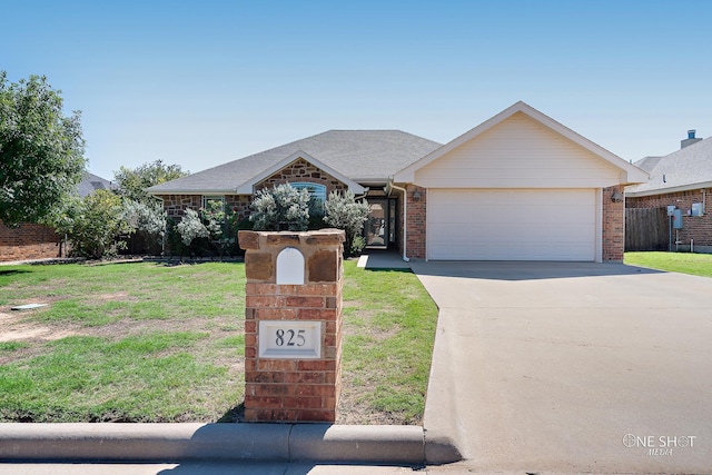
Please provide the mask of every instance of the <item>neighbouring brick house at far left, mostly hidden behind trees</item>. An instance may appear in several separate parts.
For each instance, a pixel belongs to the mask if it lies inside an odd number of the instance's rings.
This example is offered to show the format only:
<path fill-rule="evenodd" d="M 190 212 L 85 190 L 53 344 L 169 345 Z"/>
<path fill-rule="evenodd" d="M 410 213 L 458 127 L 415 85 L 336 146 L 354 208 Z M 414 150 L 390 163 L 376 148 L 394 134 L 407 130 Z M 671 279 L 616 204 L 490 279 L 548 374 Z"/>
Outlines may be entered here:
<path fill-rule="evenodd" d="M 97 189 L 111 189 L 109 180 L 88 171 L 77 187 L 82 198 Z M 8 228 L 0 221 L 0 261 L 47 259 L 66 257 L 62 237 L 49 226 L 23 222 L 17 228 Z"/>

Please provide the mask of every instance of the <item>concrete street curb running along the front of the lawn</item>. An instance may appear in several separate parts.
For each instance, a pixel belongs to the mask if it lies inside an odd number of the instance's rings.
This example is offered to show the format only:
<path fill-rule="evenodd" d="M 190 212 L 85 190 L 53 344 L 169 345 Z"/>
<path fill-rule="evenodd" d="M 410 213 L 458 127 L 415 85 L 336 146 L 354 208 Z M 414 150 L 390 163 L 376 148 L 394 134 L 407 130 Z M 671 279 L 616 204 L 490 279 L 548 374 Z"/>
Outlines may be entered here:
<path fill-rule="evenodd" d="M 419 426 L 0 424 L 0 462 L 425 464 Z"/>

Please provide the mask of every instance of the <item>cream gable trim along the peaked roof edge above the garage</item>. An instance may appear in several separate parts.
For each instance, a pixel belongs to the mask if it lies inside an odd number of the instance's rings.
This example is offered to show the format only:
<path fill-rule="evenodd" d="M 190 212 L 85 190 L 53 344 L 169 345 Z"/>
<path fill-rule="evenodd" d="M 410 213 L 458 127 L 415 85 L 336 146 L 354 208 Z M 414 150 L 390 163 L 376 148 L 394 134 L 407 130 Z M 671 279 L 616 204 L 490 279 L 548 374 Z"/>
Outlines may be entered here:
<path fill-rule="evenodd" d="M 492 117 L 491 119 L 482 122 L 479 126 L 475 127 L 474 129 L 463 133 L 462 136 L 444 145 L 443 147 L 434 150 L 433 152 L 423 157 L 421 160 L 398 171 L 393 177 L 394 181 L 414 182 L 416 180 L 416 172 L 418 170 L 424 169 L 431 164 L 435 165 L 434 162 L 436 160 L 447 156 L 455 149 L 463 147 L 464 145 L 482 137 L 490 130 L 493 130 L 494 128 L 501 126 L 502 123 L 511 119 L 513 116 L 518 113 L 526 116 L 528 119 L 533 120 L 534 122 L 542 126 L 543 128 L 552 131 L 553 133 L 561 137 L 562 139 L 574 144 L 575 146 L 589 152 L 596 159 L 603 160 L 604 164 L 615 167 L 619 170 L 619 175 L 620 175 L 617 179 L 619 182 L 627 184 L 627 182 L 641 182 L 641 181 L 647 180 L 647 176 L 643 170 L 629 164 L 627 161 L 623 160 L 616 155 L 611 154 L 603 147 L 592 142 L 591 140 L 574 132 L 567 127 L 564 127 L 560 122 L 540 112 L 538 110 L 526 105 L 525 102 L 520 101 L 508 107 L 507 109 L 503 110 L 502 112 L 497 113 L 496 116 Z"/>

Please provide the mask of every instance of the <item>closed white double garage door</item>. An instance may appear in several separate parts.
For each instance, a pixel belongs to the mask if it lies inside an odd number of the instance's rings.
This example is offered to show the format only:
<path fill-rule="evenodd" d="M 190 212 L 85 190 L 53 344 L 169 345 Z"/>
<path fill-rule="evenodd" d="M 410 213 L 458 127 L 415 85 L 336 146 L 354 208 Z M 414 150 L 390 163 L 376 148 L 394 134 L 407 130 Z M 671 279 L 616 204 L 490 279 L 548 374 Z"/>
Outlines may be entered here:
<path fill-rule="evenodd" d="M 441 260 L 595 260 L 594 189 L 427 194 L 427 257 Z"/>

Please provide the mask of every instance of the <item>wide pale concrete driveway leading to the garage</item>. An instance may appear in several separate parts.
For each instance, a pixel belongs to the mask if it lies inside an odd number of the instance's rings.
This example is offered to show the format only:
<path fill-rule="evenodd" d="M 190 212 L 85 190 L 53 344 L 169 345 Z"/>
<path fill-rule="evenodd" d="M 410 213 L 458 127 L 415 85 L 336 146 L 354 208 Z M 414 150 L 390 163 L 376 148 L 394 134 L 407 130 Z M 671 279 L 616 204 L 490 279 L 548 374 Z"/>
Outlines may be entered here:
<path fill-rule="evenodd" d="M 451 437 L 462 468 L 712 473 L 712 279 L 619 264 L 412 268 L 439 307 L 426 441 Z"/>

